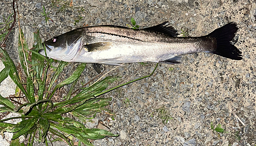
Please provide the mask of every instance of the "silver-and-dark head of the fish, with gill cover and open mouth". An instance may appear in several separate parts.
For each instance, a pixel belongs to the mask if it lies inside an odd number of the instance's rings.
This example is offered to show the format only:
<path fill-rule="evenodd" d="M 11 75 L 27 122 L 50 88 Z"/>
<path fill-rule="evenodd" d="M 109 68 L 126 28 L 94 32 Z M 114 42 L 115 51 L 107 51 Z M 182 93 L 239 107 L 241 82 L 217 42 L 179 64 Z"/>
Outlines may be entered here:
<path fill-rule="evenodd" d="M 42 43 L 45 49 L 39 50 L 39 54 L 56 60 L 72 62 L 82 45 L 82 34 L 73 30 L 65 34 L 53 37 Z"/>

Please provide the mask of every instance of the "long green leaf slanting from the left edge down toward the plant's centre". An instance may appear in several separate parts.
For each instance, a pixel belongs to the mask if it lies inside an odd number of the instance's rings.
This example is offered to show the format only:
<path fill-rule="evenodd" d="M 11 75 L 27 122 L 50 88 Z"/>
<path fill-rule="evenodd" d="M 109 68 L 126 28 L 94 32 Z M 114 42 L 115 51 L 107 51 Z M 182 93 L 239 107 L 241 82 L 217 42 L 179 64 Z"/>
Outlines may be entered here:
<path fill-rule="evenodd" d="M 12 59 L 10 58 L 9 54 L 2 47 L 0 47 L 0 57 L 1 57 L 1 60 L 3 61 L 4 65 L 5 65 L 5 67 L 10 66 L 9 76 L 11 77 L 12 81 L 18 86 L 18 88 L 26 96 L 28 96 L 26 90 L 24 89 L 23 85 L 21 84 L 21 81 L 19 80 L 16 66 L 14 65 L 14 63 L 13 63 Z"/>

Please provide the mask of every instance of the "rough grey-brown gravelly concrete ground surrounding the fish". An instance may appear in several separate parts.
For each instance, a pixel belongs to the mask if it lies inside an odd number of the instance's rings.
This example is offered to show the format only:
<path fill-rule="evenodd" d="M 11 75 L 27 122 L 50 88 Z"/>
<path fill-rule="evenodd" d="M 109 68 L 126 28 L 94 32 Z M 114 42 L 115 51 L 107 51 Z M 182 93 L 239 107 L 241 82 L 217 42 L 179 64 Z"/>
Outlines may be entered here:
<path fill-rule="evenodd" d="M 73 9 L 60 12 L 57 11 L 61 4 L 52 7 L 52 2 L 57 1 L 18 2 L 20 25 L 26 28 L 24 33 L 28 39 L 37 29 L 42 39 L 47 40 L 85 25 L 126 26 L 131 23 L 131 17 L 141 28 L 169 21 L 179 33 L 181 29 L 188 30 L 188 35 L 193 37 L 206 35 L 230 21 L 238 23 L 236 46 L 244 56 L 241 61 L 207 53 L 184 55 L 182 64 L 160 64 L 152 77 L 103 95 L 113 97 L 108 108 L 115 113 L 115 120 L 109 114 L 100 113 L 96 123 L 103 121 L 111 132 L 120 136 L 94 140 L 95 145 L 256 144 L 255 1 L 73 0 Z M 1 1 L 0 6 L 2 15 L 12 13 L 10 1 Z M 48 16 L 52 21 L 45 22 L 40 14 L 42 6 L 50 12 Z M 80 7 L 84 11 L 79 12 Z M 74 25 L 79 14 L 82 19 Z M 13 32 L 6 48 L 16 60 L 15 38 Z M 111 72 L 110 75 L 121 77 L 111 86 L 148 75 L 155 65 L 125 64 Z M 106 68 L 110 70 L 113 66 Z M 95 76 L 89 64 L 82 77 L 84 82 Z M 162 123 L 159 108 L 173 119 Z M 225 132 L 212 130 L 211 122 L 215 127 L 221 124 Z M 87 123 L 89 128 L 94 126 L 95 123 Z"/>

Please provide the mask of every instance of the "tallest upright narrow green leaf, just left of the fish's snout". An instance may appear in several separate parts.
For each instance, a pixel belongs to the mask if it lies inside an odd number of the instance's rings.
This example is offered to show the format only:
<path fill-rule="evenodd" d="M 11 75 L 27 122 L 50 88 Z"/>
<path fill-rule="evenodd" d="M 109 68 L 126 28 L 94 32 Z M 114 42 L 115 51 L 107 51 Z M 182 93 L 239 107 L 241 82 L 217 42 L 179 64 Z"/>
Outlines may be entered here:
<path fill-rule="evenodd" d="M 28 44 L 24 37 L 22 29 L 20 29 L 20 35 L 18 35 L 18 55 L 20 59 L 20 64 L 22 65 L 22 68 L 24 69 L 24 72 L 26 76 L 28 76 L 29 68 L 28 68 Z"/>

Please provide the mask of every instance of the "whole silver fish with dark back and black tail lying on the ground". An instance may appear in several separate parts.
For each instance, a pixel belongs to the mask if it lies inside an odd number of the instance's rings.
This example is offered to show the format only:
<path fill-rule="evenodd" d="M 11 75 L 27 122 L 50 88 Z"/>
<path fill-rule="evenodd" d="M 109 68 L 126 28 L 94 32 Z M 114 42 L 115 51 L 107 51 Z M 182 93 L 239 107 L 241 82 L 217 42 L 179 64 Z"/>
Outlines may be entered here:
<path fill-rule="evenodd" d="M 44 42 L 46 48 L 39 53 L 67 62 L 108 65 L 132 62 L 176 64 L 181 63 L 181 55 L 200 52 L 241 60 L 241 52 L 233 42 L 237 30 L 237 24 L 230 22 L 206 36 L 177 37 L 177 31 L 168 26 L 167 21 L 145 29 L 84 27 Z"/>

